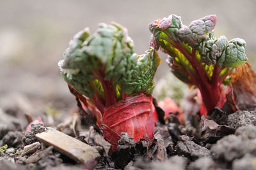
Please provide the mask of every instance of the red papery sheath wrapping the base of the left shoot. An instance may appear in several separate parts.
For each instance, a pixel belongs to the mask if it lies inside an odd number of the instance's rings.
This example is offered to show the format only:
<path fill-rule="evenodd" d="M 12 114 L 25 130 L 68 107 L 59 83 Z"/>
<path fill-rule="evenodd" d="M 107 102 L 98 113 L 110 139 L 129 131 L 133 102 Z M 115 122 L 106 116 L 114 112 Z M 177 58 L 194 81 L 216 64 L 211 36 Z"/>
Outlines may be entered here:
<path fill-rule="evenodd" d="M 115 150 L 121 132 L 127 132 L 134 141 L 142 138 L 150 141 L 156 121 L 157 113 L 152 96 L 140 93 L 109 106 L 102 117 L 100 129 Z"/>

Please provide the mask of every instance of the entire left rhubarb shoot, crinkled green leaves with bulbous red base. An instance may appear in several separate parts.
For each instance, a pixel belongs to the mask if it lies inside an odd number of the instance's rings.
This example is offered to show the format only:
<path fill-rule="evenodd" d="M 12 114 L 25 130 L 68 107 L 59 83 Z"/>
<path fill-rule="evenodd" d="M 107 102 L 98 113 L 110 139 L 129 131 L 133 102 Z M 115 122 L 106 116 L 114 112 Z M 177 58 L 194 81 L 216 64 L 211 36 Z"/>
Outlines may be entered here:
<path fill-rule="evenodd" d="M 134 53 L 122 25 L 100 24 L 78 32 L 59 62 L 61 75 L 84 110 L 89 109 L 114 150 L 121 132 L 135 141 L 153 138 L 157 113 L 152 103 L 154 74 L 161 60 L 150 47 Z"/>

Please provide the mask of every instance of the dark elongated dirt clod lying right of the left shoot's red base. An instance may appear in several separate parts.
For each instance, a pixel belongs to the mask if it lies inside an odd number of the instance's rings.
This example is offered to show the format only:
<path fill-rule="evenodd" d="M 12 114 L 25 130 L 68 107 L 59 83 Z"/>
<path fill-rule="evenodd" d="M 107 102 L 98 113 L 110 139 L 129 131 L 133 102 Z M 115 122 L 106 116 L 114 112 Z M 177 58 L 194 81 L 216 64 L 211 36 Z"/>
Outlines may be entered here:
<path fill-rule="evenodd" d="M 175 150 L 179 155 L 189 157 L 191 160 L 196 160 L 200 157 L 211 157 L 211 153 L 207 148 L 197 145 L 193 141 L 179 141 L 175 146 Z"/>

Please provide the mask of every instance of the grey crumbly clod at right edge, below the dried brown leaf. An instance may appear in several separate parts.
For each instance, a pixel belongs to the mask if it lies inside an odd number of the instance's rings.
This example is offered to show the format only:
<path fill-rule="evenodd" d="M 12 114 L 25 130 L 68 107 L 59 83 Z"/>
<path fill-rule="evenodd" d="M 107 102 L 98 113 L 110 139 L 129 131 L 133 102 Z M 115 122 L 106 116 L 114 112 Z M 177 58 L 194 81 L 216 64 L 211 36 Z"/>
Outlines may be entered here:
<path fill-rule="evenodd" d="M 228 115 L 227 124 L 235 129 L 246 125 L 256 125 L 256 111 L 236 111 Z"/>

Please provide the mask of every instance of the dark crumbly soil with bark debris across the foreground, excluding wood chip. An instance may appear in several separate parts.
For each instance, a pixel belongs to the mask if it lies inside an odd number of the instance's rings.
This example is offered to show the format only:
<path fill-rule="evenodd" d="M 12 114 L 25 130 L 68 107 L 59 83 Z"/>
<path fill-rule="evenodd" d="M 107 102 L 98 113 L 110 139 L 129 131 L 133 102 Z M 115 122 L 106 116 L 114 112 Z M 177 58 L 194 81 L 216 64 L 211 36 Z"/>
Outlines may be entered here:
<path fill-rule="evenodd" d="M 161 108 L 157 111 L 161 113 Z M 134 141 L 123 133 L 113 153 L 99 129 L 75 113 L 62 120 L 58 130 L 99 151 L 101 158 L 95 169 L 256 169 L 255 111 L 226 115 L 221 125 L 216 123 L 220 117 L 193 117 L 187 126 L 180 125 L 172 114 L 162 119 L 150 143 L 145 139 Z M 193 121 L 200 123 L 193 127 Z M 85 169 L 35 138 L 36 133 L 45 131 L 42 124 L 33 124 L 30 131 L 23 131 L 17 122 L 0 125 L 1 169 Z"/>

